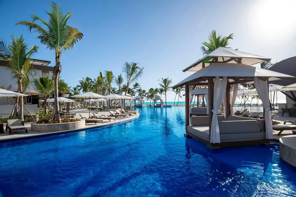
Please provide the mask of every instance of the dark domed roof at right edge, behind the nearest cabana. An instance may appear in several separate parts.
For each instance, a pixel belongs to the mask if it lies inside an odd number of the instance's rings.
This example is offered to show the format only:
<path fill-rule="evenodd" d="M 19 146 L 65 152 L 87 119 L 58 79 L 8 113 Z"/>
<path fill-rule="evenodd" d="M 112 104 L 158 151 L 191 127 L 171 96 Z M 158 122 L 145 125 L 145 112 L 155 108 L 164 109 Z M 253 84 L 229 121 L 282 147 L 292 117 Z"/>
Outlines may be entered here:
<path fill-rule="evenodd" d="M 271 66 L 268 70 L 296 76 L 296 56 L 278 62 Z M 287 86 L 296 83 L 296 78 L 292 79 L 291 81 L 277 80 L 272 83 Z"/>

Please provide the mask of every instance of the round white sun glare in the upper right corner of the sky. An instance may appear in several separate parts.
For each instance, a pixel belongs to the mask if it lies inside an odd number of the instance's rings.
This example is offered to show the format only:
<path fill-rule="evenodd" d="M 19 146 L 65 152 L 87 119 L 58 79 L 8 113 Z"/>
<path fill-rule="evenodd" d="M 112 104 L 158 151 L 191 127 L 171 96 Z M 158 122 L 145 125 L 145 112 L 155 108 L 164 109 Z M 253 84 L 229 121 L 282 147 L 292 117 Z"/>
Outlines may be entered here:
<path fill-rule="evenodd" d="M 296 30 L 296 0 L 261 0 L 250 9 L 254 30 L 268 38 L 275 34 L 291 35 Z"/>

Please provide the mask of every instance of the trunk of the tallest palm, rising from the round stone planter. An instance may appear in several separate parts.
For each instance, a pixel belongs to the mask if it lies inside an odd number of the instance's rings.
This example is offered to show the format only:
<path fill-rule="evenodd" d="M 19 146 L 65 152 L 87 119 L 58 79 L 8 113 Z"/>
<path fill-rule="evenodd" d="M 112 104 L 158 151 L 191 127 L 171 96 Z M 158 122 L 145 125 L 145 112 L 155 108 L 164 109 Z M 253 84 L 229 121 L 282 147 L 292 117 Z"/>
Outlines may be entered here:
<path fill-rule="evenodd" d="M 60 62 L 60 52 L 57 53 L 56 56 L 56 65 L 54 66 L 54 113 L 56 121 L 61 121 L 61 116 L 59 115 L 59 102 L 57 100 L 58 96 L 58 80 L 59 73 L 61 71 L 61 62 Z"/>

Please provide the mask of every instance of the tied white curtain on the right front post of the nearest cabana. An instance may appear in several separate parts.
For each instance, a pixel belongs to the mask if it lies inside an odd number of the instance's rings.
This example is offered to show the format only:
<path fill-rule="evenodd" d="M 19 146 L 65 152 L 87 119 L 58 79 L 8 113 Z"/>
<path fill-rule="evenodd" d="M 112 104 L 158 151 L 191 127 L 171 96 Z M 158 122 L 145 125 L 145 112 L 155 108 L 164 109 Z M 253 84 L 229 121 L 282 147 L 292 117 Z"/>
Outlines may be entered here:
<path fill-rule="evenodd" d="M 256 87 L 258 95 L 259 95 L 259 97 L 262 101 L 263 107 L 265 109 L 264 120 L 265 120 L 266 139 L 273 139 L 267 80 L 263 81 L 263 80 L 259 79 L 258 77 L 255 77 L 254 85 Z"/>

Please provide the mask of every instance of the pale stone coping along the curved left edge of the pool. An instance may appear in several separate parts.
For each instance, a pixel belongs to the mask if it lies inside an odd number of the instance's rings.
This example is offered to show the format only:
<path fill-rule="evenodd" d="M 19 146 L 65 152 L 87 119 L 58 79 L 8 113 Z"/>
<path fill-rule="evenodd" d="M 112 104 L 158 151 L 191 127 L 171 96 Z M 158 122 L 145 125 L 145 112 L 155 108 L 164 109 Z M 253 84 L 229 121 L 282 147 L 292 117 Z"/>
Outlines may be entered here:
<path fill-rule="evenodd" d="M 139 118 L 140 114 L 137 113 L 136 115 L 128 118 L 128 119 L 117 119 L 116 122 L 111 121 L 111 122 L 104 122 L 103 124 L 97 124 L 97 125 L 91 125 L 91 126 L 86 126 L 84 128 L 79 128 L 79 129 L 74 129 L 74 130 L 66 130 L 66 131 L 53 131 L 53 132 L 48 132 L 48 133 L 26 133 L 24 135 L 9 135 L 9 136 L 4 136 L 7 138 L 0 138 L 0 143 L 2 142 L 7 142 L 7 141 L 16 141 L 16 140 L 23 140 L 23 139 L 30 139 L 30 138 L 36 138 L 36 137 L 43 137 L 43 136 L 49 136 L 49 135 L 55 135 L 55 134 L 60 134 L 60 133 L 70 133 L 70 132 L 76 132 L 76 131 L 81 131 L 81 130 L 86 130 L 89 128 L 98 128 L 98 127 L 107 127 L 107 126 L 112 126 L 120 123 L 125 123 L 128 121 L 135 120 Z"/>

